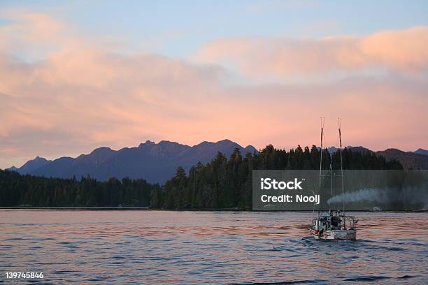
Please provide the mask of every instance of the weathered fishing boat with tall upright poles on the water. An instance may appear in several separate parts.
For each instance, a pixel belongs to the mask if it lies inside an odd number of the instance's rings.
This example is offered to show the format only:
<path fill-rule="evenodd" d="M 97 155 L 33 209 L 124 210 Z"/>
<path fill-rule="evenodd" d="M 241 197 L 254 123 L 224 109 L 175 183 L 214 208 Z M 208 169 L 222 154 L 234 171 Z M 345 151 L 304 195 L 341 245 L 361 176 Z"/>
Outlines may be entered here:
<path fill-rule="evenodd" d="M 333 156 L 330 154 L 330 169 L 329 175 L 322 175 L 322 138 L 324 135 L 324 118 L 321 118 L 321 149 L 320 149 L 320 192 L 322 177 L 329 176 L 330 178 L 330 193 L 333 194 Z M 339 149 L 341 158 L 341 185 L 342 194 L 344 193 L 343 187 L 343 161 L 342 161 L 342 134 L 341 134 L 341 119 L 338 119 L 338 138 L 339 138 Z M 315 208 L 314 208 L 315 212 Z M 310 228 L 311 235 L 315 240 L 357 240 L 357 222 L 358 220 L 353 216 L 345 214 L 345 203 L 342 202 L 342 210 L 322 210 L 321 207 L 318 209 L 318 217 L 313 219 Z"/>

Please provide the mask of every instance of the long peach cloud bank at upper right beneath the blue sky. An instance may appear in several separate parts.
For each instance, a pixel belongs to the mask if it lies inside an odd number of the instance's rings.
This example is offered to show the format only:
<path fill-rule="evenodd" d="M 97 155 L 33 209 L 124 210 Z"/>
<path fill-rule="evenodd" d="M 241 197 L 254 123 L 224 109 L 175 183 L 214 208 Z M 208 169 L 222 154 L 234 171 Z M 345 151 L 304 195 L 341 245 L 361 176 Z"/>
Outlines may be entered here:
<path fill-rule="evenodd" d="M 222 39 L 201 47 L 194 59 L 227 64 L 251 78 L 371 69 L 426 73 L 427 47 L 428 27 L 411 27 L 365 37 Z"/>

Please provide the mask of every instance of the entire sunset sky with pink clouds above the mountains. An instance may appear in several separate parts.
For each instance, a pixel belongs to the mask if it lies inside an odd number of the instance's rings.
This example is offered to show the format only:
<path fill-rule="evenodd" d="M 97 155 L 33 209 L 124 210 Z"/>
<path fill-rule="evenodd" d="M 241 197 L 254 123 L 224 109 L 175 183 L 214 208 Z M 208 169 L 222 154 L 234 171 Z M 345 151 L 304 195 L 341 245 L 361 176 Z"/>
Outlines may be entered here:
<path fill-rule="evenodd" d="M 0 168 L 145 140 L 428 149 L 427 1 L 0 1 Z"/>

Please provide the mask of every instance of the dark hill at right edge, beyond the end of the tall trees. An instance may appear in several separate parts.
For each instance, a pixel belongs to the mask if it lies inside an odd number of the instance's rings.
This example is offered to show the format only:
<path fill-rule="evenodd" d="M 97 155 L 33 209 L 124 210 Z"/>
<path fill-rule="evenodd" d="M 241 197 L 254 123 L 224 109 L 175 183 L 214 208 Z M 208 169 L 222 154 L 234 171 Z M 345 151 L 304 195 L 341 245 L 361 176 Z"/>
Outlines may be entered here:
<path fill-rule="evenodd" d="M 384 156 L 385 159 L 397 159 L 404 168 L 428 169 L 428 156 L 415 152 L 403 152 L 399 149 L 386 149 L 376 154 Z"/>

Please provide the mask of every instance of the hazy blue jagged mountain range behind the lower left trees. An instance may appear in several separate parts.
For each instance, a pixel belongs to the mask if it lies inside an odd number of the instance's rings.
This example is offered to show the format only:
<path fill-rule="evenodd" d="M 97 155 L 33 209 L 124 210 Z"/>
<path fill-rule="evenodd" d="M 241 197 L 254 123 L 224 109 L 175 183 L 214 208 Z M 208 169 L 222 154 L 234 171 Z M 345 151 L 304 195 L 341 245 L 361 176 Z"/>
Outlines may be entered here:
<path fill-rule="evenodd" d="M 207 163 L 222 152 L 229 156 L 235 148 L 246 152 L 257 152 L 255 147 L 241 147 L 231 140 L 218 142 L 201 142 L 190 147 L 178 142 L 162 140 L 159 143 L 150 140 L 138 147 L 125 147 L 113 150 L 109 147 L 94 149 L 90 154 L 81 154 L 76 158 L 61 157 L 48 161 L 41 157 L 27 161 L 18 172 L 45 177 L 71 178 L 90 175 L 97 180 L 105 181 L 110 177 L 143 178 L 152 183 L 163 183 L 171 178 L 178 166 L 185 170 L 199 161 Z"/>

